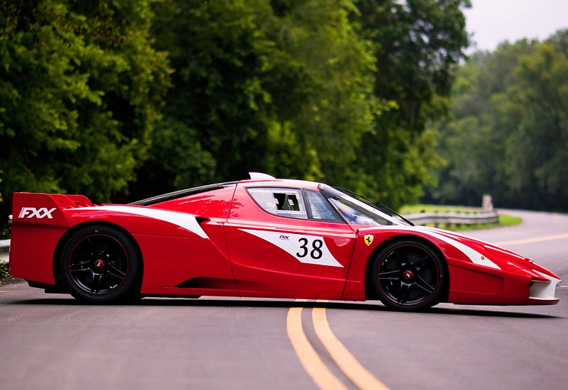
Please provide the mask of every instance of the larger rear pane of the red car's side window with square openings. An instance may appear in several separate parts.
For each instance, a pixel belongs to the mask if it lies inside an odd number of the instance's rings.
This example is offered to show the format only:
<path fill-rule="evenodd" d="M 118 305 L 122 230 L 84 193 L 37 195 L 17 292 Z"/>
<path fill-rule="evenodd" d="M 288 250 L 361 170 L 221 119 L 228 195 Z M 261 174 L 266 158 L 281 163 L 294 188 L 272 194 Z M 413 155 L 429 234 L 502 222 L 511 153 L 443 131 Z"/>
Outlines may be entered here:
<path fill-rule="evenodd" d="M 248 188 L 249 194 L 264 211 L 277 216 L 307 219 L 300 189 Z"/>

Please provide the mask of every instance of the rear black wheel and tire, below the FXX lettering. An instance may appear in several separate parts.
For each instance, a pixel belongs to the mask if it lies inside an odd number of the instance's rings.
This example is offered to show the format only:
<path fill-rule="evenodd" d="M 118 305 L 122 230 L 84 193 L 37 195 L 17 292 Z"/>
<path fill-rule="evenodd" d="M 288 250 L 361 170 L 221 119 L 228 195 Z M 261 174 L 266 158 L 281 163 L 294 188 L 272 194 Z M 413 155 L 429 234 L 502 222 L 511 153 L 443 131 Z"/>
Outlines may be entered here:
<path fill-rule="evenodd" d="M 63 246 L 59 271 L 67 290 L 89 303 L 119 303 L 140 292 L 141 260 L 131 239 L 107 225 L 77 230 Z"/>

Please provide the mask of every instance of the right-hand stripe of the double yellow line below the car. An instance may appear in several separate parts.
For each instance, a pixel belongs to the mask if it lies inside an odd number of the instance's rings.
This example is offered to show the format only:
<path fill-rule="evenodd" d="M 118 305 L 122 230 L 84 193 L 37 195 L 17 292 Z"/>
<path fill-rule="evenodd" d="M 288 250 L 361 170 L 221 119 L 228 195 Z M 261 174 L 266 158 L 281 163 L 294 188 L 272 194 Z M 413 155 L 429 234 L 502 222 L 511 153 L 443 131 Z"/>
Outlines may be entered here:
<path fill-rule="evenodd" d="M 376 379 L 373 374 L 368 372 L 334 335 L 332 329 L 329 328 L 325 308 L 313 308 L 312 321 L 314 323 L 315 333 L 317 337 L 322 340 L 329 355 L 332 355 L 333 360 L 335 360 L 339 368 L 342 369 L 346 376 L 349 377 L 359 389 L 388 390 L 388 387 Z"/>

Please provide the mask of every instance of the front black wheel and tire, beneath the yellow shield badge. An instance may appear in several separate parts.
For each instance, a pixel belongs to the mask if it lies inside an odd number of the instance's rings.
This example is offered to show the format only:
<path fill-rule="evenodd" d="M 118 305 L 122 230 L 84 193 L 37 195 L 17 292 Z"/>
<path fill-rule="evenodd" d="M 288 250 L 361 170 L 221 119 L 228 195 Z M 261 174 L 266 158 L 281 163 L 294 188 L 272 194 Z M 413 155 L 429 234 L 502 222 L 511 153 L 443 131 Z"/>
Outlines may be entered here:
<path fill-rule="evenodd" d="M 373 287 L 385 306 L 420 311 L 442 299 L 447 266 L 437 251 L 418 240 L 400 240 L 376 256 Z"/>

